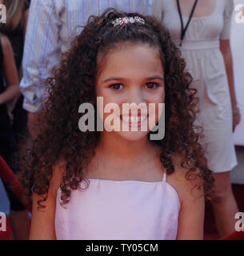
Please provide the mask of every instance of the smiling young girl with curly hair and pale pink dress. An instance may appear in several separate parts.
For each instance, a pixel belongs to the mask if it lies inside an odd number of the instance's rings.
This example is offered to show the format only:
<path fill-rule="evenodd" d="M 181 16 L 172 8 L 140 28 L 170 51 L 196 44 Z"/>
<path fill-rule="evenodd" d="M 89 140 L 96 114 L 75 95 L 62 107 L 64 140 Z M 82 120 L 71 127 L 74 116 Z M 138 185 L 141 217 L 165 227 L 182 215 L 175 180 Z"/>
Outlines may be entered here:
<path fill-rule="evenodd" d="M 50 98 L 23 176 L 34 192 L 30 239 L 203 238 L 213 178 L 185 66 L 155 18 L 116 10 L 90 18 L 47 79 Z M 129 131 L 79 130 L 82 103 L 101 116 L 97 97 L 119 106 L 114 121 Z M 164 138 L 133 131 L 150 117 L 123 116 L 124 103 L 165 103 Z"/>

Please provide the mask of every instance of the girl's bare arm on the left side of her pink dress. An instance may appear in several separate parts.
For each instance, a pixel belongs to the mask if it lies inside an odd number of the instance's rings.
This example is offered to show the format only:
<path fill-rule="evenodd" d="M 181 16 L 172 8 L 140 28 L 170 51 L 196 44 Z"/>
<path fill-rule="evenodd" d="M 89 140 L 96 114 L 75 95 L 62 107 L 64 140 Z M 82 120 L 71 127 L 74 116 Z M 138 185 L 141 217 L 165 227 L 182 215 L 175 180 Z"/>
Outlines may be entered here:
<path fill-rule="evenodd" d="M 56 240 L 55 210 L 57 191 L 62 180 L 62 169 L 54 166 L 53 176 L 50 180 L 50 189 L 45 202 L 41 202 L 45 209 L 38 209 L 38 200 L 42 195 L 33 194 L 33 210 L 30 226 L 30 240 Z"/>

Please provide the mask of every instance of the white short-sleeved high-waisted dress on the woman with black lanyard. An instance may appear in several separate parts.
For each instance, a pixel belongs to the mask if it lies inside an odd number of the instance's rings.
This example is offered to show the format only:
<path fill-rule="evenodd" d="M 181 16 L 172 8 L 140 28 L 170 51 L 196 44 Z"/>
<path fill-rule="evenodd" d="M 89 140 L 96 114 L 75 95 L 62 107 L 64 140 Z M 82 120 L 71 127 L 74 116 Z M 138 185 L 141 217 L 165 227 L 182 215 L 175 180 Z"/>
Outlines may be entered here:
<path fill-rule="evenodd" d="M 153 14 L 162 20 L 179 46 L 181 22 L 174 1 L 156 0 Z M 186 70 L 194 78 L 191 87 L 198 90 L 198 119 L 202 120 L 204 129 L 208 168 L 214 173 L 229 171 L 238 164 L 232 134 L 230 90 L 219 49 L 219 40 L 230 38 L 233 10 L 233 0 L 216 0 L 212 14 L 191 19 L 181 47 Z M 188 17 L 183 17 L 184 27 L 187 21 Z"/>

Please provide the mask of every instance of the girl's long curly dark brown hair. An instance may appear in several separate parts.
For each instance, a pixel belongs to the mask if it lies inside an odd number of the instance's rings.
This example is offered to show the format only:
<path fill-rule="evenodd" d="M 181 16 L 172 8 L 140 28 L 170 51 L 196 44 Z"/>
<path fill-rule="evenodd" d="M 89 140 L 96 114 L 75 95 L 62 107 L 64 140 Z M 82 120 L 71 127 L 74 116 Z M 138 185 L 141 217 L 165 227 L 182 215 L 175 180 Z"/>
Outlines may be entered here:
<path fill-rule="evenodd" d="M 111 24 L 115 18 L 124 16 L 140 16 L 146 24 L 128 23 L 115 27 Z M 108 9 L 101 16 L 89 18 L 70 50 L 62 55 L 53 76 L 46 79 L 50 97 L 42 112 L 38 137 L 26 154 L 22 175 L 28 196 L 33 192 L 43 195 L 39 206 L 46 201 L 53 167 L 61 159 L 66 162 L 60 186 L 62 204 L 70 201 L 71 190 L 77 190 L 84 180 L 82 170 L 94 158 L 100 133 L 78 129 L 78 107 L 83 102 L 96 106 L 94 86 L 99 70 L 98 53 L 104 57 L 121 42 L 146 43 L 157 47 L 161 53 L 166 90 L 165 137 L 153 142 L 162 148 L 160 160 L 167 174 L 174 173 L 172 154 L 182 154 L 181 166 L 189 169 L 186 178 L 198 176 L 206 198 L 210 198 L 214 178 L 206 167 L 205 149 L 199 142 L 203 138 L 202 128 L 194 126 L 198 113 L 197 90 L 190 88 L 192 78 L 185 71 L 186 62 L 180 50 L 156 18 Z M 96 107 L 94 109 L 97 111 Z"/>

